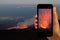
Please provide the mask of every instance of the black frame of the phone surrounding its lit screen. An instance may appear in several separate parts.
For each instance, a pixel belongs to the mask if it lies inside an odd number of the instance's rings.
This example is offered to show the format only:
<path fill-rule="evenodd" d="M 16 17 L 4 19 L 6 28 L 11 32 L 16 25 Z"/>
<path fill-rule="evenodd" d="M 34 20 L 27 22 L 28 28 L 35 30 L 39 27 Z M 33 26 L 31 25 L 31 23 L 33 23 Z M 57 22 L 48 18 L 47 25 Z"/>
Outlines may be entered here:
<path fill-rule="evenodd" d="M 52 24 L 51 24 L 51 32 L 47 31 L 47 30 L 44 30 L 44 29 L 38 29 L 38 25 L 37 25 L 37 33 L 38 33 L 38 36 L 52 36 L 53 35 L 53 5 L 52 4 L 38 4 L 37 5 L 37 15 L 38 15 L 38 18 L 39 18 L 39 9 L 52 9 L 51 11 L 51 14 L 52 14 Z M 37 24 L 39 23 L 39 19 L 37 18 L 38 22 Z M 39 32 L 40 31 L 40 32 Z"/>

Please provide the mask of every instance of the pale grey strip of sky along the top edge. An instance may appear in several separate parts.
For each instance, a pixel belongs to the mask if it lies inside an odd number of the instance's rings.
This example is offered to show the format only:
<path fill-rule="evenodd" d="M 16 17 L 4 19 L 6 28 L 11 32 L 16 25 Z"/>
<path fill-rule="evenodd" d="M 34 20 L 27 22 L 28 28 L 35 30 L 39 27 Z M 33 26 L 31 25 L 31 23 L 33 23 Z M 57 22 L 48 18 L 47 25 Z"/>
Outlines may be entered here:
<path fill-rule="evenodd" d="M 0 4 L 38 4 L 38 3 L 60 4 L 60 0 L 0 0 Z"/>

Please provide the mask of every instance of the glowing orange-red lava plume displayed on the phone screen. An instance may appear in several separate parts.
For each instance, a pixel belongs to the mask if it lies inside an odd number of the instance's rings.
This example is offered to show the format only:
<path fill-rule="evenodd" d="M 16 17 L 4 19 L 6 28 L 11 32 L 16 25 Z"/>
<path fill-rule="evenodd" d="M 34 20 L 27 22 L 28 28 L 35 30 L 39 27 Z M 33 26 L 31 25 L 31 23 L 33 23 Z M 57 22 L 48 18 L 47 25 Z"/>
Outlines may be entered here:
<path fill-rule="evenodd" d="M 50 21 L 50 10 L 45 10 L 44 12 L 42 12 L 42 14 L 40 15 L 40 23 L 39 23 L 39 28 L 48 28 L 49 25 L 49 21 Z"/>

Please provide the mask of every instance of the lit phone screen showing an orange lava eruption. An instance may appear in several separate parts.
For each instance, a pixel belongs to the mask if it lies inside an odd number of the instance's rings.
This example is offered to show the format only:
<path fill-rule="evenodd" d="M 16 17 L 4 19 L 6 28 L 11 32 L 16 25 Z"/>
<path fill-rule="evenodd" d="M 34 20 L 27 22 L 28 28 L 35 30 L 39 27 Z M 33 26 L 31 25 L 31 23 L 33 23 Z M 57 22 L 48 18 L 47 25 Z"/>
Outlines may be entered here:
<path fill-rule="evenodd" d="M 39 9 L 39 29 L 51 30 L 51 9 Z"/>

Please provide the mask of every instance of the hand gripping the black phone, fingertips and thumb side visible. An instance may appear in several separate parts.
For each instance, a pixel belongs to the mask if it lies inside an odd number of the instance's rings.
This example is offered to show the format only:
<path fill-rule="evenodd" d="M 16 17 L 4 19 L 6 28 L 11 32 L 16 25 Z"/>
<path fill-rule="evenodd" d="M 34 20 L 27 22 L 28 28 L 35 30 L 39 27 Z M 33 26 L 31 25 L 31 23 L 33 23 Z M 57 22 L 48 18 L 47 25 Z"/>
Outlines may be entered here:
<path fill-rule="evenodd" d="M 34 25 L 35 25 L 35 29 L 37 29 L 37 15 L 35 15 L 34 17 Z M 57 38 L 58 37 L 58 38 Z M 48 37 L 48 39 L 50 40 L 59 40 L 60 38 L 60 28 L 59 28 L 59 22 L 58 22 L 58 16 L 57 16 L 57 11 L 56 11 L 56 7 L 53 7 L 53 36 L 52 37 Z"/>

